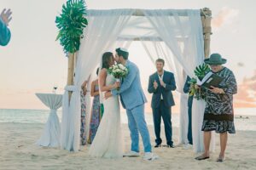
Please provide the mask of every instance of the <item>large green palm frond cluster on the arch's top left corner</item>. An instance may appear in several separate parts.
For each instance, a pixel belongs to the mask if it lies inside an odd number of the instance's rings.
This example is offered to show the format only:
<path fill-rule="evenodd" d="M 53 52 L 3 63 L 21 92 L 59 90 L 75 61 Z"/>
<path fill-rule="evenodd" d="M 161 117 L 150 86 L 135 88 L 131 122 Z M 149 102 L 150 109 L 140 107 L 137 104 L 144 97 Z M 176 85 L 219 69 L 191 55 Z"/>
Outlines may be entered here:
<path fill-rule="evenodd" d="M 56 41 L 60 39 L 64 53 L 75 53 L 80 47 L 84 28 L 88 25 L 86 18 L 86 4 L 84 0 L 67 0 L 62 5 L 60 16 L 55 19 L 59 29 Z"/>

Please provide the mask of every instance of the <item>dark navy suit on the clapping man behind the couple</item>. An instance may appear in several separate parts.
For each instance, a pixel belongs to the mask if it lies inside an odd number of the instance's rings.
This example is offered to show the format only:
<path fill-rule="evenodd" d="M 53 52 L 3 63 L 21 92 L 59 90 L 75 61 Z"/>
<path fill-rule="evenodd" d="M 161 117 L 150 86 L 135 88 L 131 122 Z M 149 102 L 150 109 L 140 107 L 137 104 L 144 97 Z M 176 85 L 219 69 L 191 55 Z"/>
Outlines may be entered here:
<path fill-rule="evenodd" d="M 160 125 L 161 117 L 165 124 L 166 141 L 167 144 L 172 144 L 172 105 L 175 105 L 172 96 L 172 91 L 176 89 L 176 83 L 172 72 L 164 71 L 163 82 L 166 83 L 166 88 L 160 85 L 159 75 L 155 72 L 149 77 L 148 93 L 153 94 L 151 107 L 154 118 L 154 133 L 155 143 L 161 144 L 160 139 Z M 158 83 L 158 88 L 154 88 L 154 80 Z M 161 96 L 163 99 L 161 99 Z"/>

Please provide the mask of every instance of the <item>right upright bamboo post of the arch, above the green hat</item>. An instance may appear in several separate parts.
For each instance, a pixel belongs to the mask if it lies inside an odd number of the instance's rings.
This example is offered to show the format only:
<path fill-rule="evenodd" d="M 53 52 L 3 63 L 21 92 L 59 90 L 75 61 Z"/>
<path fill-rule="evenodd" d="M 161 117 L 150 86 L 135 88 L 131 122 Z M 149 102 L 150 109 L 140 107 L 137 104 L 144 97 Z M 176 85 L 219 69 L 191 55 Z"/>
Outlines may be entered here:
<path fill-rule="evenodd" d="M 209 8 L 202 8 L 201 13 L 204 15 L 201 16 L 201 23 L 203 27 L 203 36 L 204 36 L 204 52 L 205 58 L 209 57 L 210 54 L 210 42 L 211 42 L 211 35 L 212 35 L 212 11 Z"/>

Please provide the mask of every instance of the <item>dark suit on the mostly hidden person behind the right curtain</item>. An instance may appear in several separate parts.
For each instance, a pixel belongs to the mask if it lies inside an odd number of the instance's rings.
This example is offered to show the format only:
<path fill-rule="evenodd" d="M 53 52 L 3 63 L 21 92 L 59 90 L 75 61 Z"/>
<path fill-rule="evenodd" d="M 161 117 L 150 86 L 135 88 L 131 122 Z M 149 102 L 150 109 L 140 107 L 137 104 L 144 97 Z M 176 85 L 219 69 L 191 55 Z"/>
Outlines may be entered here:
<path fill-rule="evenodd" d="M 187 77 L 187 80 L 185 82 L 183 92 L 185 94 L 189 93 L 190 84 L 189 81 L 191 80 L 190 77 Z M 189 144 L 193 144 L 193 138 L 192 138 L 192 104 L 193 104 L 193 98 L 194 96 L 189 96 L 188 99 L 188 115 L 189 115 L 189 127 L 188 127 L 188 140 Z"/>

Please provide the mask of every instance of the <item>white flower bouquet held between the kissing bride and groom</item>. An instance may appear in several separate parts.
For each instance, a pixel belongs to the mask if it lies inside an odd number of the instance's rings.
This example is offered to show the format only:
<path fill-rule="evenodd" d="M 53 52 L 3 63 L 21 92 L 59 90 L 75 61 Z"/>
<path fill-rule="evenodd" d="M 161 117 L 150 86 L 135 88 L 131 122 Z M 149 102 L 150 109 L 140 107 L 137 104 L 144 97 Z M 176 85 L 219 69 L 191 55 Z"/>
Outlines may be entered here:
<path fill-rule="evenodd" d="M 108 72 L 117 79 L 117 82 L 120 82 L 120 79 L 125 78 L 129 71 L 125 65 L 118 64 L 109 67 Z M 117 90 L 119 90 L 119 88 L 117 88 Z"/>

